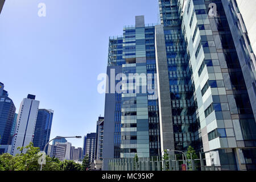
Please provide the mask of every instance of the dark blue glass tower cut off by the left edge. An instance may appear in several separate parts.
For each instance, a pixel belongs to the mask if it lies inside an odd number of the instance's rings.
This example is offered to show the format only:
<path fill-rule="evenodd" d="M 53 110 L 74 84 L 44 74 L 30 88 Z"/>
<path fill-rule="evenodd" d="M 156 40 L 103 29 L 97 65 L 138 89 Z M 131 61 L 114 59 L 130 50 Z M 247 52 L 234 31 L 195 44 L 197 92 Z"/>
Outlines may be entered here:
<path fill-rule="evenodd" d="M 0 82 L 0 145 L 11 144 L 11 129 L 14 122 L 16 107 L 8 97 L 8 93 L 3 89 Z"/>

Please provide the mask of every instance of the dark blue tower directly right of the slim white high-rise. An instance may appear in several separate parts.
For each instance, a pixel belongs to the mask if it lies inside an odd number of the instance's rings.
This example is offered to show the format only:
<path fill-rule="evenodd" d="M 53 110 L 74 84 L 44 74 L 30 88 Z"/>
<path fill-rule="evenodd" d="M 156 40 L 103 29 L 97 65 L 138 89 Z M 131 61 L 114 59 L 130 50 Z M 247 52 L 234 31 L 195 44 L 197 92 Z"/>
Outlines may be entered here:
<path fill-rule="evenodd" d="M 53 110 L 39 109 L 38 117 L 36 118 L 36 126 L 34 132 L 33 143 L 35 147 L 39 147 L 41 151 L 44 150 L 51 134 Z M 48 151 L 48 146 L 46 147 Z"/>

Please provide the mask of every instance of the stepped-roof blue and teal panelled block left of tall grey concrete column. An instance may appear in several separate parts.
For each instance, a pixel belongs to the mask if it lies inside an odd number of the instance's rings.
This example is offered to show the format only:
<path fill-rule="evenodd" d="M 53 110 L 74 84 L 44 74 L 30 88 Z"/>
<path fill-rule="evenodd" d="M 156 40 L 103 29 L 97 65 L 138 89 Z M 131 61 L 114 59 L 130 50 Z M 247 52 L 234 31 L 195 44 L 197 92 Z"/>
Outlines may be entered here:
<path fill-rule="evenodd" d="M 155 73 L 155 26 L 136 16 L 135 26 L 109 40 L 103 159 L 160 155 Z"/>

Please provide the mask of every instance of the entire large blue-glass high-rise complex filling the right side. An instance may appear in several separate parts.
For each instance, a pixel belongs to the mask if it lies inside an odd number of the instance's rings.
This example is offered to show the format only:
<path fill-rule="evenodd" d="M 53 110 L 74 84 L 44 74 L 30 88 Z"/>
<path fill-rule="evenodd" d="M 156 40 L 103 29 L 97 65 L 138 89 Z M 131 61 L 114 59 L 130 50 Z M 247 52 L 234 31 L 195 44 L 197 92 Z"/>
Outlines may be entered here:
<path fill-rule="evenodd" d="M 207 166 L 256 169 L 255 55 L 236 2 L 159 0 L 159 9 L 161 24 L 136 16 L 109 40 L 103 159 L 192 146 Z"/>

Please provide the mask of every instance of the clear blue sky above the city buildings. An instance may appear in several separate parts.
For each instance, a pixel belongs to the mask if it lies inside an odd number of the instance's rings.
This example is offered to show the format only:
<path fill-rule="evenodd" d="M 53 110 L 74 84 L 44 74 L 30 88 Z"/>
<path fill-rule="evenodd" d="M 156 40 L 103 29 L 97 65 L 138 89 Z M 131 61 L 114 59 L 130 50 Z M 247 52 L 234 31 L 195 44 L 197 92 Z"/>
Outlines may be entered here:
<path fill-rule="evenodd" d="M 38 4 L 46 4 L 46 17 Z M 109 36 L 123 26 L 158 22 L 157 0 L 7 0 L 0 15 L 0 82 L 16 113 L 28 93 L 40 109 L 53 109 L 51 138 L 96 132 L 105 94 L 97 76 L 106 73 Z M 82 139 L 69 139 L 82 147 Z"/>

